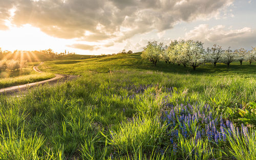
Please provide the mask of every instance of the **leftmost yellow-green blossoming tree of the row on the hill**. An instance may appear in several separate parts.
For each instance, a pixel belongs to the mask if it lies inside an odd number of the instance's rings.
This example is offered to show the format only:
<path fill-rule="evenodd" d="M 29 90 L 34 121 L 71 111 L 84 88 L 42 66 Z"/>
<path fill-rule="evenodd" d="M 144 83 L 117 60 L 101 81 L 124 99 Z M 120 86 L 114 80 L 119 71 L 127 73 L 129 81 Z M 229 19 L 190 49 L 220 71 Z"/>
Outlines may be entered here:
<path fill-rule="evenodd" d="M 143 59 L 153 62 L 154 65 L 160 60 L 160 55 L 164 52 L 163 43 L 157 41 L 147 42 L 146 47 L 143 49 L 141 57 Z"/>

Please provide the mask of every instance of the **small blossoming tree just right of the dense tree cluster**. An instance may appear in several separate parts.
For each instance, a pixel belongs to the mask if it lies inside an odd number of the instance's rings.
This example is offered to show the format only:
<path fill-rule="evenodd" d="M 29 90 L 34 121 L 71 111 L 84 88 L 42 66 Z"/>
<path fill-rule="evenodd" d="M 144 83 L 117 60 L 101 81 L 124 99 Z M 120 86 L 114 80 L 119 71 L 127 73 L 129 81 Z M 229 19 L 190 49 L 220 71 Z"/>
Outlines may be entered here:
<path fill-rule="evenodd" d="M 214 63 L 214 66 L 216 66 L 216 63 L 219 62 L 219 59 L 221 57 L 221 53 L 221 46 L 217 46 L 217 44 L 214 44 L 211 49 L 207 48 L 207 60 Z"/>

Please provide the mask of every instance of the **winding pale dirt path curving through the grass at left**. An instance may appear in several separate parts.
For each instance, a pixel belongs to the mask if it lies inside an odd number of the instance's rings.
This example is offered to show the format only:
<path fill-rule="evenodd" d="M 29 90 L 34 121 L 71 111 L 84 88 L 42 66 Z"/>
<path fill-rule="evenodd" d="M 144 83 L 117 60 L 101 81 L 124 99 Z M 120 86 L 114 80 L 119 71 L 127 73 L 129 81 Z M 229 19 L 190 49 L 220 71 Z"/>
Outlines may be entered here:
<path fill-rule="evenodd" d="M 41 62 L 40 64 L 37 64 L 37 65 L 33 66 L 33 70 L 37 73 L 42 73 L 42 71 L 40 71 L 38 69 L 38 66 L 42 65 L 43 63 L 44 62 Z M 51 79 L 48 79 L 48 80 L 2 88 L 2 89 L 0 89 L 0 95 L 2 95 L 2 94 L 11 95 L 11 94 L 14 94 L 14 93 L 22 92 L 24 90 L 27 90 L 31 87 L 35 87 L 35 86 L 38 86 L 38 85 L 43 85 L 43 84 L 46 84 L 46 83 L 52 85 L 52 84 L 56 84 L 58 82 L 73 80 L 73 79 L 76 79 L 77 77 L 78 76 L 74 76 L 74 75 L 55 74 L 54 78 L 51 78 Z"/>

